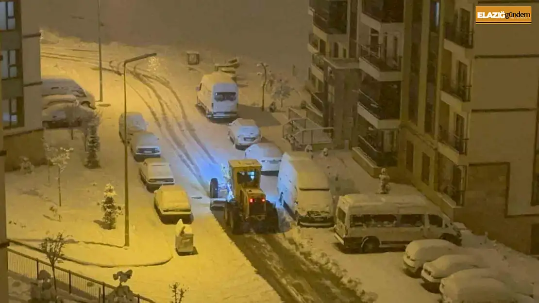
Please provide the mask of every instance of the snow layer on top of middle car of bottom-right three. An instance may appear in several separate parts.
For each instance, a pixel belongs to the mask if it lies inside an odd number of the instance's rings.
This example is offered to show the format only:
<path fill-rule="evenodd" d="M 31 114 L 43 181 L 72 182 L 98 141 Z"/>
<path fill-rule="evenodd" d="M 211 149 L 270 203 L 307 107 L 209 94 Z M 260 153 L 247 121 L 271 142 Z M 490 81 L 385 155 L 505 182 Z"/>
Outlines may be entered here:
<path fill-rule="evenodd" d="M 474 255 L 445 255 L 423 265 L 424 269 L 436 271 L 437 274 L 444 274 L 446 276 L 456 271 L 471 269 L 473 267 L 481 268 L 488 266 L 480 257 Z"/>

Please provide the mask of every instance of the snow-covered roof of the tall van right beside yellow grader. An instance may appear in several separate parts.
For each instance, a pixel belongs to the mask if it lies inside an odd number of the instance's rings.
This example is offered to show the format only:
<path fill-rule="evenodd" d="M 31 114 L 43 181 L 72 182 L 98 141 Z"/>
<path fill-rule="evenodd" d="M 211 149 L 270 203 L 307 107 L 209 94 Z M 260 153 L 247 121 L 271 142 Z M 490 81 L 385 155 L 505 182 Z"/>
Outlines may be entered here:
<path fill-rule="evenodd" d="M 298 189 L 329 189 L 326 173 L 312 159 L 298 159 L 291 163 L 298 174 Z"/>

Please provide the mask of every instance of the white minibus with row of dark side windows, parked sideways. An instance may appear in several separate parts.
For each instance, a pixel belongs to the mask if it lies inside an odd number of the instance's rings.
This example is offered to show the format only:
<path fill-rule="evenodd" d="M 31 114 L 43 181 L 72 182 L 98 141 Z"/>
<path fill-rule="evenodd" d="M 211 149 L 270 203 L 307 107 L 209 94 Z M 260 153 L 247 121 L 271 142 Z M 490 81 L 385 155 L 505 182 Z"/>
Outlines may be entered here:
<path fill-rule="evenodd" d="M 400 247 L 418 239 L 460 244 L 460 231 L 420 195 L 349 194 L 340 196 L 335 238 L 343 251 Z"/>

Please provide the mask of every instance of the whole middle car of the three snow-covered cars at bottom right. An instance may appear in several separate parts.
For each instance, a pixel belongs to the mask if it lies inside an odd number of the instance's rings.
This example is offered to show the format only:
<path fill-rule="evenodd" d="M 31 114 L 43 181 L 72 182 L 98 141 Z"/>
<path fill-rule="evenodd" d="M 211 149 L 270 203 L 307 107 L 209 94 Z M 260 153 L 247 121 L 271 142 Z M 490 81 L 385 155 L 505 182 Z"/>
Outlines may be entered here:
<path fill-rule="evenodd" d="M 488 268 L 486 262 L 473 255 L 446 255 L 423 264 L 421 279 L 425 288 L 439 291 L 441 279 L 451 276 L 453 273 L 475 268 Z"/>

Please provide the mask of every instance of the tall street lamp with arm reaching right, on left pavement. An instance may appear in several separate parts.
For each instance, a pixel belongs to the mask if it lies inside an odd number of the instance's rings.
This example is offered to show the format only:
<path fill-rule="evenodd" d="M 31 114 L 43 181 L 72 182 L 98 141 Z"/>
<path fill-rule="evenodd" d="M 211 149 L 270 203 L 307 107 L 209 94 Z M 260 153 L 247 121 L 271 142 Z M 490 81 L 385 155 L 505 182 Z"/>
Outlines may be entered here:
<path fill-rule="evenodd" d="M 126 81 L 126 74 L 127 69 L 126 65 L 131 62 L 144 60 L 146 58 L 155 57 L 157 53 L 151 53 L 151 54 L 143 54 L 139 57 L 134 57 L 127 59 L 123 61 L 123 166 L 124 166 L 124 216 L 125 216 L 125 245 L 126 247 L 129 246 L 129 178 L 127 175 L 127 81 Z"/>

